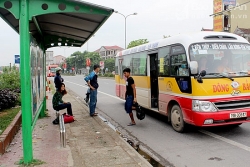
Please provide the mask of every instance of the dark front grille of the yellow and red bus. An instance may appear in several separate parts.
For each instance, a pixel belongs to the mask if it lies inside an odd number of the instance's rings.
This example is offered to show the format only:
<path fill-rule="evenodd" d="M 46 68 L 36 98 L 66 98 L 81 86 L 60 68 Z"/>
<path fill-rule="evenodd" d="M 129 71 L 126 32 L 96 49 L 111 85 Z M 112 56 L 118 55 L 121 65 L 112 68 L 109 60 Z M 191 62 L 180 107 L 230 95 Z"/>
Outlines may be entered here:
<path fill-rule="evenodd" d="M 214 104 L 219 110 L 250 108 L 250 100 L 215 102 Z"/>

